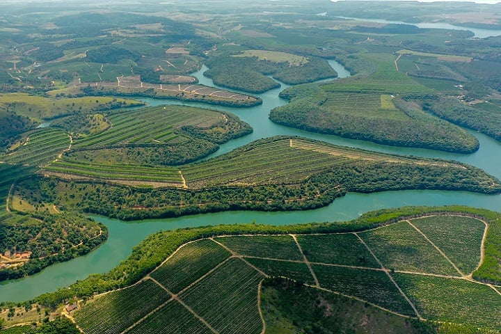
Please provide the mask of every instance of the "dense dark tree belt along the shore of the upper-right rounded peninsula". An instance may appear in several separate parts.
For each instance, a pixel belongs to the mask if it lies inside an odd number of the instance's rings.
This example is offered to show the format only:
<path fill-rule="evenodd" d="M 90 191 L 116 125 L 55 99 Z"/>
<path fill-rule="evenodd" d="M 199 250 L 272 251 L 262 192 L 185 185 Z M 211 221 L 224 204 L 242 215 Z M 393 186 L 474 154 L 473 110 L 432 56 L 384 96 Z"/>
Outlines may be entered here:
<path fill-rule="evenodd" d="M 285 106 L 273 109 L 270 120 L 310 132 L 383 145 L 459 153 L 471 153 L 479 148 L 477 139 L 468 132 L 431 117 L 412 104 L 401 102 L 399 111 L 377 112 L 364 104 L 363 94 L 357 97 L 353 93 L 350 98 L 360 99 L 360 111 L 350 112 L 344 111 L 342 106 L 324 106 L 322 102 L 328 97 L 318 100 L 308 92 L 314 93 L 315 89 L 305 88 L 301 92 L 301 88 L 296 88 L 290 94 L 284 93 L 282 96 L 296 98 Z"/>

